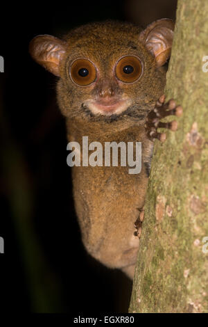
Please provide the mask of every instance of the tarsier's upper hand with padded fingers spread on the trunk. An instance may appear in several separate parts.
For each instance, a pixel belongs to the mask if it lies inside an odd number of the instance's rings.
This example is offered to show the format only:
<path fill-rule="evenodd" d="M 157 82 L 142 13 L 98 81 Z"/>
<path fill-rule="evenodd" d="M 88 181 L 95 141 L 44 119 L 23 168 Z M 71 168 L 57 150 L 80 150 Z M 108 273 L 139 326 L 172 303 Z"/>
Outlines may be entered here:
<path fill-rule="evenodd" d="M 164 142 L 166 140 L 165 133 L 158 133 L 157 128 L 167 128 L 171 131 L 176 131 L 177 122 L 160 122 L 160 120 L 168 115 L 182 115 L 183 109 L 182 106 L 176 106 L 174 99 L 170 99 L 168 102 L 165 102 L 165 96 L 162 95 L 155 104 L 155 108 L 151 110 L 146 118 L 146 124 L 144 125 L 146 129 L 146 134 L 150 141 L 155 141 L 157 138 L 159 141 Z"/>

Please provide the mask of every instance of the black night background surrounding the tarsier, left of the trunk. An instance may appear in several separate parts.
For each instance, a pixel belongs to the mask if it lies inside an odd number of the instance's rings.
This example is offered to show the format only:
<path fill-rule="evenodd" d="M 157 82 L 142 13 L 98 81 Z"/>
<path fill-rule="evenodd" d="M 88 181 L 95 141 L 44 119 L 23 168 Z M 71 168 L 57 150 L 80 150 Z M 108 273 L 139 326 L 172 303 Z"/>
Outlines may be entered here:
<path fill-rule="evenodd" d="M 90 257 L 80 238 L 55 77 L 30 40 L 105 19 L 146 26 L 175 18 L 176 0 L 1 3 L 1 312 L 128 312 L 132 283 Z"/>

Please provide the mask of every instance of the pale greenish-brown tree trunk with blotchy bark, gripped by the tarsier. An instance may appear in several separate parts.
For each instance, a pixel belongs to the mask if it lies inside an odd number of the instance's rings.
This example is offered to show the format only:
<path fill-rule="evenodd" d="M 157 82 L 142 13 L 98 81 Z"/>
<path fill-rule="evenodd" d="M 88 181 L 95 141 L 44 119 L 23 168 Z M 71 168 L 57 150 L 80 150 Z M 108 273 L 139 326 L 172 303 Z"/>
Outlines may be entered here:
<path fill-rule="evenodd" d="M 155 142 L 130 312 L 208 312 L 207 17 L 207 0 L 178 1 L 166 99 L 184 113 Z"/>

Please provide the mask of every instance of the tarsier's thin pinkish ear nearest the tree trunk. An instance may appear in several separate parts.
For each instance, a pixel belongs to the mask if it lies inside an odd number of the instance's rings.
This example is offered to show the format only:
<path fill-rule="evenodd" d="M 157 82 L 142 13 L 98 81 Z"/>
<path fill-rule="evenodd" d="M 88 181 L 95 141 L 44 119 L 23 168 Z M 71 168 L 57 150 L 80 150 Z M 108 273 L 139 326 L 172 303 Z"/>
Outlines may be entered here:
<path fill-rule="evenodd" d="M 155 56 L 157 67 L 164 65 L 171 56 L 174 23 L 171 19 L 159 19 L 139 34 L 139 40 Z"/>

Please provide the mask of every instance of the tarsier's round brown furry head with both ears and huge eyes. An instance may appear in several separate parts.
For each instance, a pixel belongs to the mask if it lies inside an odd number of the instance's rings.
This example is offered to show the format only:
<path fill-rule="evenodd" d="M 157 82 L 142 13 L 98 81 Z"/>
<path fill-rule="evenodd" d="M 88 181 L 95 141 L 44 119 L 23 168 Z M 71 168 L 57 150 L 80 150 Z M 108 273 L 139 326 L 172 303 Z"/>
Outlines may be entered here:
<path fill-rule="evenodd" d="M 164 63 L 171 54 L 174 24 L 159 19 L 144 31 L 121 22 L 87 24 L 62 40 L 38 35 L 31 56 L 56 76 L 58 102 L 67 117 L 142 118 L 162 95 Z"/>

